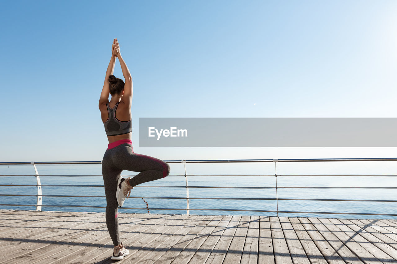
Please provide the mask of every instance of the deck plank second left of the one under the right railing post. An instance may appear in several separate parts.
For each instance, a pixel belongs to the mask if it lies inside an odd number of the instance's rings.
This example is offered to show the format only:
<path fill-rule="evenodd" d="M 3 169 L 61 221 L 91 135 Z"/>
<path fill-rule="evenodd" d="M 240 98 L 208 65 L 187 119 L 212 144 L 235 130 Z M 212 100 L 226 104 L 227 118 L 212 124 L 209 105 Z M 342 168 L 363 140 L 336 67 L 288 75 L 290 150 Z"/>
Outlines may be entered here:
<path fill-rule="evenodd" d="M 258 263 L 259 216 L 251 216 L 240 264 Z"/>

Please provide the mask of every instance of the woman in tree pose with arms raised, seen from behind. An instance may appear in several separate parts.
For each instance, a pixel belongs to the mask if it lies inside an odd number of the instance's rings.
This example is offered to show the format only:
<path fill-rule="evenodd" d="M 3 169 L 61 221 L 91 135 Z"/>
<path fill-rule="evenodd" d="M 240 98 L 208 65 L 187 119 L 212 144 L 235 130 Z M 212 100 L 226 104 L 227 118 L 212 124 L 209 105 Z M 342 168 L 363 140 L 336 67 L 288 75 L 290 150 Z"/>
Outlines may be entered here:
<path fill-rule="evenodd" d="M 116 58 L 120 61 L 125 82 L 113 75 Z M 109 101 L 109 93 L 112 98 Z M 160 159 L 134 153 L 131 142 L 132 77 L 120 54 L 117 38 L 112 44 L 112 58 L 106 71 L 99 99 L 102 122 L 108 136 L 108 149 L 102 159 L 102 175 L 106 194 L 106 226 L 113 241 L 112 259 L 121 260 L 129 254 L 119 238 L 117 211 L 123 206 L 131 189 L 141 183 L 164 178 L 170 166 Z M 121 177 L 123 170 L 140 172 L 133 178 Z M 127 198 L 128 198 L 127 197 Z"/>

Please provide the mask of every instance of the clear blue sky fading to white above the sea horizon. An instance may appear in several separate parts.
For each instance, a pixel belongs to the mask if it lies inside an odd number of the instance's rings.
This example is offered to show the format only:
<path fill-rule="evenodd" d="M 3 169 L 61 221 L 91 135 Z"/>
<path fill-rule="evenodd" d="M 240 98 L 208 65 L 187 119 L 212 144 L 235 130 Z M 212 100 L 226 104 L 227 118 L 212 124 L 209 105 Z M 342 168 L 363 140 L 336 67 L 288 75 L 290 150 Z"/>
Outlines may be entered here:
<path fill-rule="evenodd" d="M 114 38 L 133 77 L 137 153 L 396 157 L 396 148 L 139 147 L 137 135 L 139 117 L 396 117 L 396 13 L 386 0 L 3 1 L 0 161 L 102 159 L 98 99 Z"/>

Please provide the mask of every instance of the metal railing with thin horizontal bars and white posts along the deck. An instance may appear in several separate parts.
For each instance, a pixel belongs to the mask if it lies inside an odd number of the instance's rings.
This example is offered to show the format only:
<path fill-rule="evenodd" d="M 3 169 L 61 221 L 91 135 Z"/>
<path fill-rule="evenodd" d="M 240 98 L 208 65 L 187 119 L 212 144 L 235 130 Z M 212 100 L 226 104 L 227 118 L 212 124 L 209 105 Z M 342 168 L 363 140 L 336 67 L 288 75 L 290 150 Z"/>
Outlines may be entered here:
<path fill-rule="evenodd" d="M 278 189 L 397 189 L 397 186 L 388 187 L 342 187 L 342 186 L 278 186 L 277 177 L 321 177 L 321 176 L 359 176 L 359 177 L 376 177 L 376 176 L 388 176 L 396 177 L 395 174 L 277 174 L 277 163 L 278 162 L 338 162 L 338 161 L 397 161 L 397 158 L 353 158 L 353 159 L 234 159 L 234 160 L 181 160 L 181 161 L 166 161 L 167 163 L 182 163 L 184 166 L 184 175 L 168 175 L 168 177 L 185 177 L 185 186 L 142 186 L 137 187 L 162 187 L 162 188 L 186 188 L 186 197 L 137 197 L 131 196 L 131 198 L 146 198 L 146 199 L 185 199 L 186 208 L 150 208 L 151 210 L 185 210 L 189 214 L 190 210 L 216 210 L 216 211 L 250 211 L 250 212 L 273 212 L 277 213 L 303 213 L 303 214 L 359 214 L 359 215 L 383 215 L 383 216 L 397 216 L 397 214 L 378 214 L 378 213 L 363 213 L 363 212 L 308 212 L 308 211 L 281 211 L 278 209 L 279 200 L 288 201 L 360 201 L 360 202 L 397 202 L 397 200 L 368 200 L 368 199 L 304 199 L 304 198 L 278 198 Z M 186 163 L 274 163 L 275 174 L 187 174 Z M 39 175 L 36 165 L 76 165 L 76 164 L 101 164 L 101 161 L 63 161 L 63 162 L 0 162 L 0 165 L 33 165 L 35 169 L 35 175 L 0 175 L 1 176 L 35 176 L 37 184 L 0 184 L 0 186 L 37 186 L 37 194 L 0 194 L 1 196 L 36 196 L 36 205 L 20 205 L 20 204 L 0 204 L 0 206 L 31 206 L 36 207 L 36 210 L 40 211 L 41 207 L 91 207 L 91 208 L 106 208 L 103 206 L 87 206 L 87 205 L 42 205 L 42 197 L 105 197 L 101 195 L 43 195 L 42 186 L 53 186 L 53 187 L 104 187 L 103 185 L 42 185 L 40 183 L 41 177 L 102 177 L 102 175 Z M 128 175 L 131 176 L 131 175 Z M 258 177 L 275 177 L 275 186 L 266 187 L 243 187 L 243 186 L 189 186 L 189 176 L 258 176 Z M 228 189 L 276 189 L 275 198 L 234 198 L 234 197 L 190 197 L 189 188 L 228 188 Z M 212 200 L 276 200 L 276 210 L 251 210 L 251 209 L 214 209 L 214 208 L 190 208 L 189 200 L 191 199 L 212 199 Z M 143 209 L 148 208 L 135 208 L 135 207 L 123 207 L 123 209 Z"/>

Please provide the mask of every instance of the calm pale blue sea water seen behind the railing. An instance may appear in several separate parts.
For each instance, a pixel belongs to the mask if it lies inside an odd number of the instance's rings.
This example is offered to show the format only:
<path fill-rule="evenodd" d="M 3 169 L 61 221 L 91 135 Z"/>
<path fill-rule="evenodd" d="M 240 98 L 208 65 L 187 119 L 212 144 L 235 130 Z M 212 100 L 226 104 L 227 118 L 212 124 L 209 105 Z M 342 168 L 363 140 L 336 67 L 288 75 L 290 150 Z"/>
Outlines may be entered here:
<path fill-rule="evenodd" d="M 171 174 L 184 174 L 182 164 L 171 164 Z M 186 164 L 188 174 L 274 174 L 274 163 L 235 163 L 235 164 Z M 100 175 L 101 165 L 37 165 L 41 184 L 98 185 L 100 187 L 42 187 L 43 195 L 104 195 L 102 176 L 99 177 L 52 177 L 44 175 Z M 314 163 L 278 163 L 277 174 L 397 174 L 396 162 L 315 162 Z M 33 165 L 1 165 L 0 174 L 34 174 Z M 136 172 L 123 171 L 122 175 L 135 175 Z M 274 176 L 189 176 L 189 186 L 275 186 Z M 33 176 L 0 177 L 1 184 L 36 184 Z M 357 177 L 357 176 L 322 176 L 292 177 L 280 176 L 278 186 L 397 186 L 397 177 Z M 145 186 L 185 186 L 185 177 L 173 177 L 147 182 Z M 0 186 L 1 194 L 37 194 L 37 187 Z M 131 196 L 142 197 L 186 197 L 186 189 L 178 187 L 140 187 L 131 191 Z M 233 198 L 275 198 L 275 189 L 220 189 L 189 188 L 190 197 L 233 197 Z M 396 189 L 278 189 L 278 198 L 304 199 L 379 199 L 397 200 Z M 42 207 L 47 211 L 104 212 L 104 208 L 62 207 L 62 205 L 106 206 L 104 197 L 43 197 Z M 186 199 L 151 199 L 145 198 L 150 208 L 185 209 Z M 0 196 L 1 204 L 35 205 L 37 197 Z M 312 212 L 354 212 L 397 214 L 395 202 L 348 202 L 348 201 L 278 201 L 280 211 Z M 124 207 L 146 208 L 141 198 L 129 198 Z M 191 199 L 191 209 L 245 209 L 276 210 L 275 200 L 208 200 Z M 0 209 L 35 210 L 27 206 L 0 206 Z M 147 210 L 119 208 L 119 212 L 147 213 Z M 153 210 L 150 213 L 185 214 L 186 210 Z M 272 212 L 224 211 L 224 210 L 190 210 L 190 214 L 227 214 L 227 215 L 270 215 Z M 360 214 L 302 214 L 279 213 L 279 216 L 332 217 L 332 218 L 366 218 L 397 219 L 397 216 L 377 216 Z"/>

